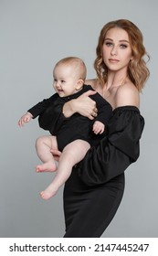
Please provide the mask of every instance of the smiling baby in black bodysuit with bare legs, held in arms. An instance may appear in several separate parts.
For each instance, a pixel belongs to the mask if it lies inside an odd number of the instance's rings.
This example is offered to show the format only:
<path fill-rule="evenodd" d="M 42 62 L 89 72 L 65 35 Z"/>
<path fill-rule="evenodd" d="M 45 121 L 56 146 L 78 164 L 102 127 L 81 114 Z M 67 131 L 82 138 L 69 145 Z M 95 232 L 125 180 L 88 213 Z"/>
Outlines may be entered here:
<path fill-rule="evenodd" d="M 19 122 L 23 126 L 31 119 L 39 116 L 39 126 L 48 130 L 51 135 L 37 138 L 37 155 L 43 162 L 37 165 L 36 171 L 55 172 L 56 176 L 40 196 L 43 199 L 53 197 L 71 174 L 72 167 L 78 164 L 90 149 L 90 142 L 100 139 L 104 133 L 105 125 L 111 117 L 111 105 L 99 93 L 91 95 L 96 101 L 98 114 L 94 120 L 73 114 L 70 118 L 64 117 L 62 107 L 65 102 L 78 98 L 82 93 L 93 90 L 90 85 L 85 85 L 86 66 L 82 59 L 68 57 L 61 59 L 53 70 L 53 87 L 57 92 L 47 100 L 37 103 L 24 114 Z M 57 112 L 61 111 L 60 117 Z M 62 152 L 58 160 L 58 167 L 51 154 L 51 149 Z"/>

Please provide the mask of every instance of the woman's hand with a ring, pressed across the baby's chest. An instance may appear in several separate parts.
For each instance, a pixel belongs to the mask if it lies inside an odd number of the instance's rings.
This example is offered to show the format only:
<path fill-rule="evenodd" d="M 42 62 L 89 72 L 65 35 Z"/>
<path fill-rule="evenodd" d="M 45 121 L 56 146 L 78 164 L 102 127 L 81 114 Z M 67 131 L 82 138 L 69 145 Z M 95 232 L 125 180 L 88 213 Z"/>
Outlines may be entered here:
<path fill-rule="evenodd" d="M 94 95 L 96 91 L 86 91 L 79 98 L 68 101 L 64 104 L 63 114 L 70 117 L 75 112 L 93 120 L 97 116 L 96 102 L 90 99 L 90 95 Z"/>

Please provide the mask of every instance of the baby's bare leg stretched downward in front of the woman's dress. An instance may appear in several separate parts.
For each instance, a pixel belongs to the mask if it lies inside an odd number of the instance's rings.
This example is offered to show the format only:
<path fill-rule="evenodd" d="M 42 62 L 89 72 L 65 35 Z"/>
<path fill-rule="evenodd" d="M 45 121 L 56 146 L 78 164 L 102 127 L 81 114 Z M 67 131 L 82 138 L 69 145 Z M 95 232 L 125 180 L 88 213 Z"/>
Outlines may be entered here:
<path fill-rule="evenodd" d="M 90 144 L 82 140 L 76 140 L 64 148 L 58 161 L 58 170 L 55 178 L 52 183 L 40 193 L 43 199 L 53 197 L 57 193 L 58 188 L 61 187 L 68 179 L 68 176 L 70 176 L 72 167 L 84 158 L 89 149 Z"/>

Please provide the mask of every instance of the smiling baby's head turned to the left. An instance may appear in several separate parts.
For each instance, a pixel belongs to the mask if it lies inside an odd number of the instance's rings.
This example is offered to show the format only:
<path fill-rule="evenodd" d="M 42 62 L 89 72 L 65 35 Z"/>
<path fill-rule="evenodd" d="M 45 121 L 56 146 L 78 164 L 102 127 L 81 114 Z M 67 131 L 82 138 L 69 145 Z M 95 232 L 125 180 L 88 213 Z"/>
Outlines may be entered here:
<path fill-rule="evenodd" d="M 82 89 L 87 69 L 82 59 L 67 57 L 60 59 L 53 70 L 54 89 L 60 97 L 66 97 Z"/>

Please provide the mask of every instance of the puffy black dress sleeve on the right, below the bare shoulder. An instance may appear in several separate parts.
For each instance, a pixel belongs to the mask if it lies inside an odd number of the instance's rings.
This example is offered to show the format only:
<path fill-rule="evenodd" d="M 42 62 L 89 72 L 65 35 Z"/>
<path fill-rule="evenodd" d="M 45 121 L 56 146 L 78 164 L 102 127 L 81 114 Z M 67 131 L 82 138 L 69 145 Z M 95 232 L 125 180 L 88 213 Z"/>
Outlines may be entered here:
<path fill-rule="evenodd" d="M 79 163 L 79 176 L 89 186 L 108 182 L 121 175 L 140 155 L 144 119 L 134 106 L 112 112 L 108 134 L 93 146 Z"/>

